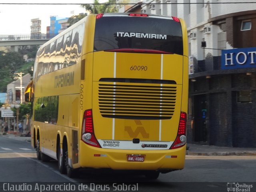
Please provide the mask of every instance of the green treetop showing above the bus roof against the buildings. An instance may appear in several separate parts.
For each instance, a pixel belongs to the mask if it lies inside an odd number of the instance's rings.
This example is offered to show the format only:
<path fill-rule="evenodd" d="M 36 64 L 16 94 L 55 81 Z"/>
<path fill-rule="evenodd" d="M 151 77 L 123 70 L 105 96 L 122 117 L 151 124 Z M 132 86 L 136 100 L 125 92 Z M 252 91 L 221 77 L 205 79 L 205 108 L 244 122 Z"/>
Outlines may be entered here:
<path fill-rule="evenodd" d="M 81 6 L 84 7 L 86 10 L 88 10 L 92 14 L 99 14 L 99 13 L 115 13 L 118 12 L 115 5 L 113 5 L 116 1 L 115 0 L 108 0 L 108 2 L 104 4 L 100 4 L 99 0 L 94 0 L 94 4 L 92 5 L 84 5 Z"/>

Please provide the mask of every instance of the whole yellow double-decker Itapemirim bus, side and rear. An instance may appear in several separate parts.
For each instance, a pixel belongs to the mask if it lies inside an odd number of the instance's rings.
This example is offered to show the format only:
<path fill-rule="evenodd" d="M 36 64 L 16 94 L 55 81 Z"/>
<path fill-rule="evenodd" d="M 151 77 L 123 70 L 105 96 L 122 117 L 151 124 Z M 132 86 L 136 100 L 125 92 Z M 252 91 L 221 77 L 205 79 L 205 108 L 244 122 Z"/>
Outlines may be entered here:
<path fill-rule="evenodd" d="M 26 90 L 37 158 L 70 177 L 183 169 L 187 43 L 182 19 L 122 13 L 90 14 L 43 44 Z"/>

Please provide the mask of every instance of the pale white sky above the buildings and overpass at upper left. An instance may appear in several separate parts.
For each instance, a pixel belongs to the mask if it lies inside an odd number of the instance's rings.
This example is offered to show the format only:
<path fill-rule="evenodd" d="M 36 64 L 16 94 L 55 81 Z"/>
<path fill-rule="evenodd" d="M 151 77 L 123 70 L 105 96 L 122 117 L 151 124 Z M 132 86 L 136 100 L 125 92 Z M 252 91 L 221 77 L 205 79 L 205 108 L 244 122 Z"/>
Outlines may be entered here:
<path fill-rule="evenodd" d="M 80 5 L 20 5 L 1 3 L 92 3 L 93 0 L 0 0 L 0 35 L 30 34 L 31 19 L 40 18 L 41 31 L 46 33 L 50 16 L 70 17 L 84 13 Z M 101 2 L 101 1 L 100 1 Z M 70 12 L 74 11 L 74 14 Z"/>

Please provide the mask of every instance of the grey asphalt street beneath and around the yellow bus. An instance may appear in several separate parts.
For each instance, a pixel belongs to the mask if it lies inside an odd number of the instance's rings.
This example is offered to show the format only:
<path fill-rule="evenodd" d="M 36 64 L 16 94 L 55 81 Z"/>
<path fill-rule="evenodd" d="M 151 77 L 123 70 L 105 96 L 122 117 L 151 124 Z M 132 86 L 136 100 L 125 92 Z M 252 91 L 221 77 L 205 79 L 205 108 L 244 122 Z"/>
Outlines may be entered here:
<path fill-rule="evenodd" d="M 255 160 L 256 156 L 187 156 L 184 170 L 160 174 L 155 181 L 127 172 L 104 171 L 82 171 L 71 179 L 58 172 L 56 161 L 37 160 L 29 142 L 0 136 L 0 191 L 11 191 L 8 184 L 15 184 L 12 182 L 28 185 L 27 191 L 31 191 L 30 185 L 34 189 L 36 184 L 46 187 L 51 182 L 54 186 L 65 184 L 65 191 L 71 191 L 73 186 L 77 191 L 216 192 L 227 191 L 227 183 L 235 182 L 242 187 L 253 185 L 250 188 L 253 192 L 256 190 Z"/>

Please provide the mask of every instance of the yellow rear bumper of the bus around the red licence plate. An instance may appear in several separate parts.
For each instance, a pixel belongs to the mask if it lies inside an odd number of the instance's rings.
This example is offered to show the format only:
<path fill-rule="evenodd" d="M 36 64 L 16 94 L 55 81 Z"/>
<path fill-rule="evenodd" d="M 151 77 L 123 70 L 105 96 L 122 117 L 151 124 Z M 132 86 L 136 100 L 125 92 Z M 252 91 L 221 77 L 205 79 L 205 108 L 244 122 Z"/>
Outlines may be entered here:
<path fill-rule="evenodd" d="M 172 150 L 117 150 L 81 145 L 80 167 L 110 168 L 113 170 L 159 170 L 170 172 L 184 168 L 186 145 Z M 143 161 L 129 161 L 128 155 L 143 157 Z M 142 160 L 142 158 L 139 158 Z"/>

